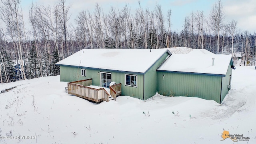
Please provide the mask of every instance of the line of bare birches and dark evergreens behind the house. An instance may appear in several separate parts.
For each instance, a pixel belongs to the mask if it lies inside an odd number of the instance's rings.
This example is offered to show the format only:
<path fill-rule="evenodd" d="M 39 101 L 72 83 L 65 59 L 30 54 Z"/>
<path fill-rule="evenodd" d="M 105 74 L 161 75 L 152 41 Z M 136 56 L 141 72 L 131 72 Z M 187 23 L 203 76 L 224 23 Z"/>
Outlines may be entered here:
<path fill-rule="evenodd" d="M 156 4 L 153 10 L 138 8 L 131 12 L 110 8 L 104 13 L 98 3 L 93 12 L 82 10 L 70 21 L 70 4 L 59 0 L 54 6 L 31 4 L 23 17 L 21 0 L 1 0 L 0 82 L 13 82 L 55 76 L 56 62 L 82 48 L 202 48 L 216 54 L 245 52 L 256 55 L 256 33 L 241 32 L 237 21 L 225 21 L 223 5 L 218 0 L 209 16 L 203 11 L 184 18 L 183 30 L 172 31 L 171 9 L 164 14 Z M 25 25 L 24 19 L 29 20 Z"/>

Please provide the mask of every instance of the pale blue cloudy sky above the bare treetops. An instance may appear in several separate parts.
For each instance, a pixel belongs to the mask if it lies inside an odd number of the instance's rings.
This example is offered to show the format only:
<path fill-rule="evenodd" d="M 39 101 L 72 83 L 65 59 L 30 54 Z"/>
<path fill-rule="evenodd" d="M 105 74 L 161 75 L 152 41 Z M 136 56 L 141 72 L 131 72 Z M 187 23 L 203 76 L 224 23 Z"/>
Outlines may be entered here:
<path fill-rule="evenodd" d="M 184 19 L 190 16 L 191 12 L 202 10 L 204 16 L 208 17 L 210 10 L 218 0 L 140 0 L 142 8 L 154 10 L 156 4 L 162 7 L 164 16 L 167 18 L 167 11 L 172 10 L 172 31 L 179 32 L 183 29 Z M 23 13 L 28 15 L 28 9 L 31 4 L 54 5 L 58 0 L 21 0 Z M 94 11 L 96 2 L 102 7 L 104 14 L 108 14 L 111 6 L 120 10 L 125 4 L 131 8 L 131 14 L 139 7 L 138 0 L 66 0 L 66 4 L 71 4 L 70 21 L 75 24 L 74 19 L 82 10 Z M 256 32 L 256 0 L 222 0 L 225 13 L 225 22 L 231 20 L 238 22 L 238 29 L 248 30 L 251 33 Z"/>

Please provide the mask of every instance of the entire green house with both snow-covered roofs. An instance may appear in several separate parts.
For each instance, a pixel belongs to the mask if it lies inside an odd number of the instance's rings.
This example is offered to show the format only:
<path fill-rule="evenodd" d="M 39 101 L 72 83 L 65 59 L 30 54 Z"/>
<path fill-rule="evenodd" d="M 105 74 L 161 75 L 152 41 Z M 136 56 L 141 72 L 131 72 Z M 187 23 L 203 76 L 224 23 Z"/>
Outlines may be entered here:
<path fill-rule="evenodd" d="M 232 56 L 215 55 L 208 51 L 208 54 L 204 54 L 206 51 L 199 51 L 202 55 L 200 58 L 203 58 L 200 60 L 196 58 L 197 50 L 183 55 L 171 54 L 169 50 L 168 48 L 83 49 L 56 65 L 60 66 L 60 81 L 74 83 L 74 81 L 90 80 L 90 84 L 78 85 L 83 85 L 80 86 L 82 89 L 88 88 L 88 85 L 110 88 L 109 96 L 113 89 L 110 86 L 111 82 L 115 82 L 120 84 L 122 95 L 141 100 L 146 100 L 158 92 L 164 95 L 194 96 L 221 103 L 230 88 Z M 196 61 L 186 58 L 186 55 L 194 56 Z M 213 57 L 215 64 L 212 66 Z M 205 59 L 210 59 L 210 65 L 202 68 L 200 64 L 206 62 Z M 219 61 L 225 64 L 219 67 Z M 192 64 L 198 72 L 186 70 L 184 67 L 188 64 Z M 208 68 L 209 66 L 211 68 Z M 81 93 L 77 89 L 80 88 L 72 90 Z M 71 91 L 70 88 L 69 90 Z M 86 94 L 99 93 L 92 90 L 96 89 L 94 87 L 86 89 Z M 83 95 L 84 93 L 81 93 L 78 96 L 88 99 Z"/>

